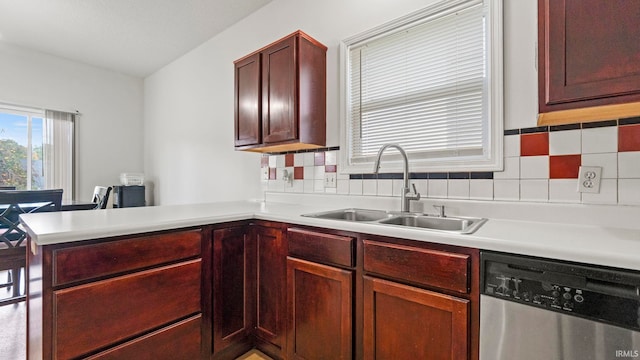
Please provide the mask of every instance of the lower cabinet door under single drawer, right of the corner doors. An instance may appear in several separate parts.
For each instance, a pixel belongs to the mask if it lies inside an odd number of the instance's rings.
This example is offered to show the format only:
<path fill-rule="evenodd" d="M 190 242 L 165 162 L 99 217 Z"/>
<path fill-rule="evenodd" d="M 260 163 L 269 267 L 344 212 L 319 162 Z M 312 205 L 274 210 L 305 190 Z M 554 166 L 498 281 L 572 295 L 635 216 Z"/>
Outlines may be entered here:
<path fill-rule="evenodd" d="M 352 272 L 287 258 L 288 359 L 351 359 Z"/>

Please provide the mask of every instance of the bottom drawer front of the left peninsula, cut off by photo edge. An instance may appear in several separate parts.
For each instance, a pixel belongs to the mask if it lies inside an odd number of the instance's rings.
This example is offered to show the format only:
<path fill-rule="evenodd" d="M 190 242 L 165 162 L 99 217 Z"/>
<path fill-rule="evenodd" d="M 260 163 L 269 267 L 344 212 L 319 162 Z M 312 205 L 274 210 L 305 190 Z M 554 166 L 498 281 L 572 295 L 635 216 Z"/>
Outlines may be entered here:
<path fill-rule="evenodd" d="M 200 354 L 201 323 L 202 316 L 197 315 L 90 356 L 87 360 L 200 359 L 202 357 Z"/>

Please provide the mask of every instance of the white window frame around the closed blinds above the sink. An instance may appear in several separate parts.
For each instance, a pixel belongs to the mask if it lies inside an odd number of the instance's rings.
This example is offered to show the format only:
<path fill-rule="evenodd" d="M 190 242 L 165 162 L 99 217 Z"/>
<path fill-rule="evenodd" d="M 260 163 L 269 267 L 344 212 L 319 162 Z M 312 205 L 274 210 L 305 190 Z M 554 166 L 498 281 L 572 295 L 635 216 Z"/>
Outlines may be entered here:
<path fill-rule="evenodd" d="M 422 10 L 408 14 L 381 26 L 349 37 L 340 43 L 340 171 L 348 174 L 373 172 L 373 161 L 353 163 L 349 128 L 351 127 L 350 68 L 349 52 L 351 47 L 360 46 L 367 41 L 393 34 L 412 24 L 428 21 L 441 12 L 455 11 L 469 6 L 469 3 L 481 3 L 487 17 L 487 82 L 484 111 L 488 117 L 485 154 L 473 160 L 460 157 L 449 158 L 413 158 L 409 153 L 412 172 L 468 172 L 501 171 L 503 169 L 504 103 L 503 103 L 503 0 L 444 0 Z M 395 152 L 384 156 L 383 172 L 402 171 L 403 163 Z"/>

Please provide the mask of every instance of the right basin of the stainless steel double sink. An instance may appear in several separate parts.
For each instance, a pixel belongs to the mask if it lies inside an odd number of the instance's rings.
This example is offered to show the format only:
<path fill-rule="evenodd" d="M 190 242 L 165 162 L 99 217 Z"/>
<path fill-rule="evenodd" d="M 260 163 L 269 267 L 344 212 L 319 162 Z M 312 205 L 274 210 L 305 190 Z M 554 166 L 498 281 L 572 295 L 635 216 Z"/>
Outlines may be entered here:
<path fill-rule="evenodd" d="M 379 221 L 379 223 L 470 234 L 476 231 L 486 221 L 487 219 L 482 218 L 438 217 L 420 214 L 401 214 L 381 220 Z"/>

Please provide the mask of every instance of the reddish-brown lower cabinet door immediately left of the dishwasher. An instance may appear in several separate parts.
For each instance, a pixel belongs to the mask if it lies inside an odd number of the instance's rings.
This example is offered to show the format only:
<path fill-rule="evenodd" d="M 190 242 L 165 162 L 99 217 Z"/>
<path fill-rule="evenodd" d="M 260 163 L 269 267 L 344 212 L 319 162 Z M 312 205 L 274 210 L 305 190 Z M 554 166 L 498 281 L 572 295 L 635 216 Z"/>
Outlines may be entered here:
<path fill-rule="evenodd" d="M 468 359 L 469 301 L 364 277 L 365 359 Z"/>

